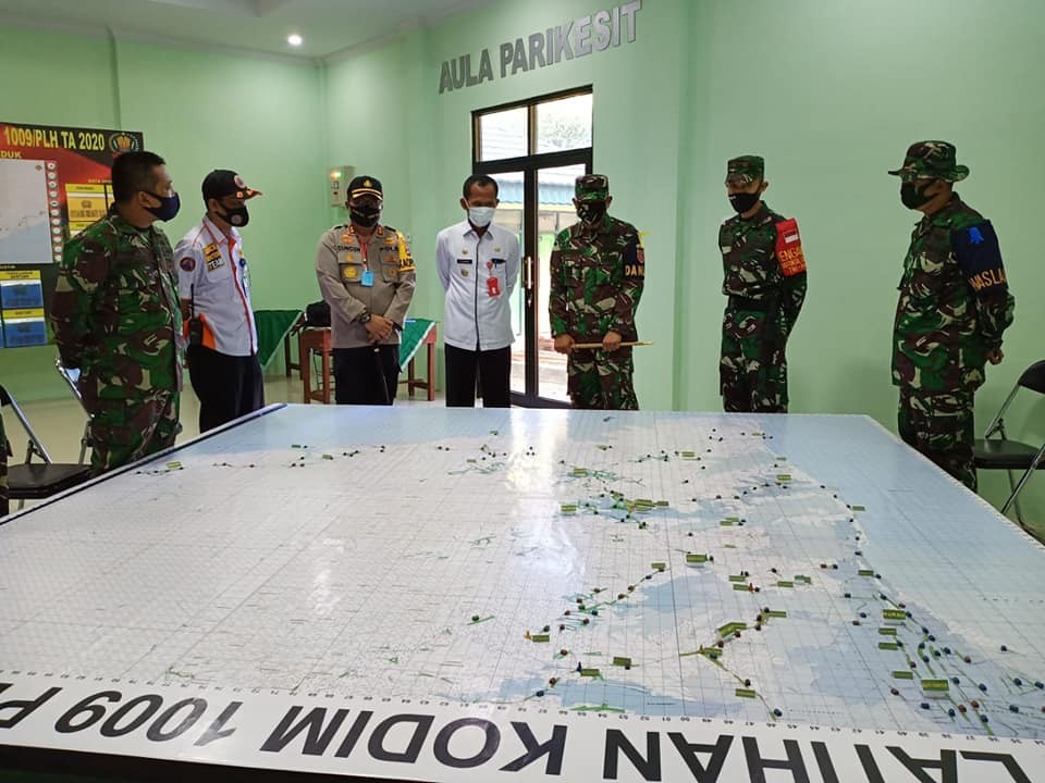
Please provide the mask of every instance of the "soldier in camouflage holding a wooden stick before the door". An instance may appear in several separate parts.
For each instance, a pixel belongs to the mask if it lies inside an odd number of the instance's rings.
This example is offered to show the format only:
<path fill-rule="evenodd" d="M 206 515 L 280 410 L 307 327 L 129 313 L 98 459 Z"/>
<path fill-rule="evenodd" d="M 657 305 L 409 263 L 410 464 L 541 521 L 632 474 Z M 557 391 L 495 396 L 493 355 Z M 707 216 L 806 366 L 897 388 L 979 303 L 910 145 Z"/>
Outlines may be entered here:
<path fill-rule="evenodd" d="M 631 384 L 635 311 L 642 296 L 646 256 L 635 226 L 611 217 L 610 182 L 592 174 L 577 178 L 579 223 L 555 237 L 549 314 L 555 350 L 569 356 L 569 399 L 574 408 L 638 410 Z M 601 349 L 574 349 L 601 343 Z"/>

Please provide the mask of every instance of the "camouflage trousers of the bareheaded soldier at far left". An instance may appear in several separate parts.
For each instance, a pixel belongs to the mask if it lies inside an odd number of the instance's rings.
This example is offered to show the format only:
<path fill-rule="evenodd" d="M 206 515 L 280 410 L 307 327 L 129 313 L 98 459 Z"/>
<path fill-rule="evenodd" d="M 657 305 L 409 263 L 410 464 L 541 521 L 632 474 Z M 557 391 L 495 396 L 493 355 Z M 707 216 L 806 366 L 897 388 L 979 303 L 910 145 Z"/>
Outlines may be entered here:
<path fill-rule="evenodd" d="M 102 473 L 173 446 L 179 403 L 170 389 L 99 400 L 90 417 L 90 467 Z"/>

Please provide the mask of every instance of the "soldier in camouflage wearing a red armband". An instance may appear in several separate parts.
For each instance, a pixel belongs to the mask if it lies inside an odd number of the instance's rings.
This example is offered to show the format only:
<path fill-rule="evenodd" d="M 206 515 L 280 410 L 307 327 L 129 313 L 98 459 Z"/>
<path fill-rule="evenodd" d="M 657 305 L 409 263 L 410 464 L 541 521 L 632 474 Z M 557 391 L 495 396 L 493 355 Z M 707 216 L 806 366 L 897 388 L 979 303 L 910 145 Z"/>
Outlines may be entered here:
<path fill-rule="evenodd" d="M 726 164 L 737 214 L 718 229 L 728 297 L 722 321 L 720 389 L 727 412 L 787 412 L 787 338 L 806 300 L 806 259 L 798 223 L 771 210 L 758 156 Z"/>

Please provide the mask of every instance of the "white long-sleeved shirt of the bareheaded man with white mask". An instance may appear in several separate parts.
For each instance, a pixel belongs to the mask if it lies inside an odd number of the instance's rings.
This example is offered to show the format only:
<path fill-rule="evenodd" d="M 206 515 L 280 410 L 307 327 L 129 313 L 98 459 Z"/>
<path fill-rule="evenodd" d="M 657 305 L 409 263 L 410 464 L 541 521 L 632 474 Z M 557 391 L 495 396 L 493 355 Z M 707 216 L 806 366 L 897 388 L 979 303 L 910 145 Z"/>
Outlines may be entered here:
<path fill-rule="evenodd" d="M 468 221 L 435 240 L 439 279 L 446 291 L 443 339 L 465 350 L 496 350 L 515 341 L 511 297 L 519 281 L 519 241 L 491 223 L 480 237 Z"/>

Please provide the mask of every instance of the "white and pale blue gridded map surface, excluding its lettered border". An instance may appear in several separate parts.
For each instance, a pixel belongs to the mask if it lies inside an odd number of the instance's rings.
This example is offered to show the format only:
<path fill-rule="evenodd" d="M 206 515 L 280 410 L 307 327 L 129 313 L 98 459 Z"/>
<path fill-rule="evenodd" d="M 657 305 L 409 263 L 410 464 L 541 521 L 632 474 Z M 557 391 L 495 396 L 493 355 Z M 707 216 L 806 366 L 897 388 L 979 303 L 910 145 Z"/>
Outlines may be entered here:
<path fill-rule="evenodd" d="M 864 418 L 292 406 L 0 526 L 2 670 L 1041 739 L 1045 550 Z"/>

